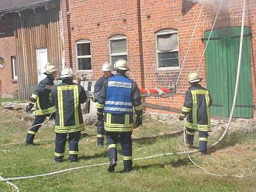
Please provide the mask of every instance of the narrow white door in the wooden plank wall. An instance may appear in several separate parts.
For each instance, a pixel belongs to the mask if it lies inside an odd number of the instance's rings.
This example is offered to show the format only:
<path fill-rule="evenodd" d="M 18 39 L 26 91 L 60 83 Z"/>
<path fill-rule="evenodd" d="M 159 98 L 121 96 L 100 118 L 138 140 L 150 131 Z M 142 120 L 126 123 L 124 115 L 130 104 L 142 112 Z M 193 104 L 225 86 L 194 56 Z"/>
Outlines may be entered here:
<path fill-rule="evenodd" d="M 47 65 L 47 61 L 48 61 L 47 48 L 36 49 L 36 60 L 37 60 L 38 83 L 39 83 L 46 77 L 44 72 L 45 72 L 45 67 Z"/>

